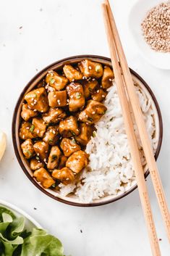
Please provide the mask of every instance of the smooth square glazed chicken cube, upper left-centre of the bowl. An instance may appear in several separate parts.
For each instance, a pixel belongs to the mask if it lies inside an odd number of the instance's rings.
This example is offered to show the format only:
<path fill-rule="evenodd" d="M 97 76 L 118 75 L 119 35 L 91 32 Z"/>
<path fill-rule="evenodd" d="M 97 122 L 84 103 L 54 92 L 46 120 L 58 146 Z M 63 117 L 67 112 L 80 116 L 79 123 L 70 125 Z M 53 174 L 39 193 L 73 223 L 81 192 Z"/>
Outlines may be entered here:
<path fill-rule="evenodd" d="M 48 102 L 50 107 L 66 107 L 67 106 L 66 90 L 50 91 L 48 93 Z"/>

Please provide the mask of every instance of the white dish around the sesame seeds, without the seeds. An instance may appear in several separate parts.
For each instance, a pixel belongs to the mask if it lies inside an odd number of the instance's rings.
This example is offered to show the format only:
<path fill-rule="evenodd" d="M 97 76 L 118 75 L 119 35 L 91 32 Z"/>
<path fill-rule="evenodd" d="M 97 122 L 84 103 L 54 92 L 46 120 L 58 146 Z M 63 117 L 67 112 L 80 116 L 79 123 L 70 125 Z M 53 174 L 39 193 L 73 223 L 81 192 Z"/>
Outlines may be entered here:
<path fill-rule="evenodd" d="M 140 54 L 148 61 L 151 65 L 158 68 L 170 70 L 170 53 L 161 53 L 154 51 L 145 42 L 143 38 L 143 32 L 141 29 L 141 22 L 143 22 L 147 12 L 161 3 L 161 0 L 139 0 L 132 7 L 129 13 L 129 30 L 132 33 L 133 38 L 139 48 Z"/>

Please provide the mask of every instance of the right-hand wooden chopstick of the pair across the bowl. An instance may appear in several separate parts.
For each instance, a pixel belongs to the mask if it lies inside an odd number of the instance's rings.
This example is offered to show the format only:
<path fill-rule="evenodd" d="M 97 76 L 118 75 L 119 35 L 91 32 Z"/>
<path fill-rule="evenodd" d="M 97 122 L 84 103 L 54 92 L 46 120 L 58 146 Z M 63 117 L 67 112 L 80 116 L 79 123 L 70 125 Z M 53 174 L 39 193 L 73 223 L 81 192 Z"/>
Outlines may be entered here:
<path fill-rule="evenodd" d="M 158 167 L 156 165 L 156 160 L 153 154 L 153 149 L 150 143 L 150 139 L 148 136 L 148 132 L 145 127 L 145 121 L 143 119 L 143 113 L 140 109 L 140 104 L 137 99 L 136 93 L 135 93 L 135 86 L 132 80 L 132 75 L 129 71 L 129 66 L 127 64 L 127 59 L 124 54 L 124 50 L 122 47 L 121 40 L 119 38 L 119 33 L 116 28 L 116 22 L 114 20 L 114 15 L 111 12 L 111 7 L 109 4 L 109 0 L 106 1 L 106 8 L 109 14 L 109 20 L 111 24 L 111 30 L 114 36 L 114 44 L 116 46 L 116 51 L 119 57 L 119 62 L 122 67 L 122 73 L 124 76 L 125 80 L 125 86 L 127 88 L 128 96 L 129 96 L 129 101 L 131 102 L 132 105 L 132 111 L 135 116 L 135 121 L 137 124 L 137 128 L 140 134 L 140 140 L 143 144 L 143 151 L 145 153 L 145 159 L 146 162 L 148 163 L 148 168 L 150 170 L 150 176 L 153 182 L 153 187 L 156 192 L 156 197 L 158 199 L 158 205 L 161 210 L 161 215 L 163 218 L 163 222 L 166 228 L 166 233 L 169 239 L 170 243 L 170 215 L 169 215 L 169 209 L 168 205 L 166 203 L 166 197 L 163 191 L 163 186 L 161 183 L 161 177 L 158 173 Z"/>

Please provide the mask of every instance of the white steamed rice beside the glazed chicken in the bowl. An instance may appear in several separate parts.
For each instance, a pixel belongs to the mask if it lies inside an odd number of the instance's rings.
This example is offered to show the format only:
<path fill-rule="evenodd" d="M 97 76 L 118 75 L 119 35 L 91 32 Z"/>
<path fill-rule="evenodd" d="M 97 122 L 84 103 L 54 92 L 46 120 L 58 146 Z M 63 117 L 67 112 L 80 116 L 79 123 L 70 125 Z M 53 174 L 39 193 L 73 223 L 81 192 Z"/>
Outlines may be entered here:
<path fill-rule="evenodd" d="M 140 86 L 135 84 L 137 96 L 140 100 L 140 107 L 143 110 L 146 127 L 152 141 L 153 150 L 156 151 L 158 139 L 155 138 L 156 126 L 154 113 L 150 99 Z M 60 184 L 60 194 L 66 197 L 74 192 L 74 195 L 81 202 L 93 202 L 108 195 L 118 195 L 124 193 L 135 185 L 135 172 L 132 168 L 131 155 L 127 134 L 124 129 L 122 110 L 115 84 L 108 89 L 104 104 L 107 107 L 106 114 L 95 125 L 97 131 L 95 137 L 91 137 L 86 152 L 90 154 L 88 168 L 83 170 L 77 183 L 67 186 Z M 137 134 L 138 144 L 141 152 L 143 166 L 145 157 L 139 135 Z"/>

